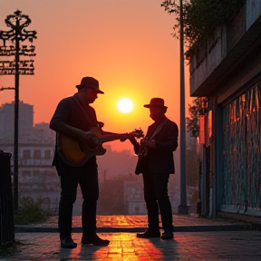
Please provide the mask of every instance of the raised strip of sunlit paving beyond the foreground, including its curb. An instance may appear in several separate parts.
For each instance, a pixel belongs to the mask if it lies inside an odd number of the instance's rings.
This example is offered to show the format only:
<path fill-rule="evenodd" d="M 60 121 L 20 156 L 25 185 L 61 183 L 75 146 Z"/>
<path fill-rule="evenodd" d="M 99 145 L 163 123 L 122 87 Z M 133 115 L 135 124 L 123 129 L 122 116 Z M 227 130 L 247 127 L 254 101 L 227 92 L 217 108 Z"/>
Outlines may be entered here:
<path fill-rule="evenodd" d="M 40 224 L 15 226 L 15 231 L 58 232 L 57 220 L 57 216 L 53 216 Z M 146 215 L 97 216 L 97 232 L 140 232 L 147 228 L 147 223 Z M 235 218 L 198 218 L 198 215 L 193 214 L 173 215 L 173 223 L 175 232 L 242 230 L 250 229 L 253 224 L 253 222 L 247 223 Z M 81 216 L 73 216 L 73 232 L 82 232 Z"/>

